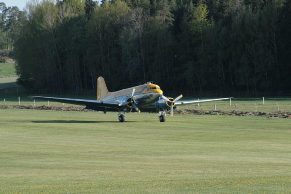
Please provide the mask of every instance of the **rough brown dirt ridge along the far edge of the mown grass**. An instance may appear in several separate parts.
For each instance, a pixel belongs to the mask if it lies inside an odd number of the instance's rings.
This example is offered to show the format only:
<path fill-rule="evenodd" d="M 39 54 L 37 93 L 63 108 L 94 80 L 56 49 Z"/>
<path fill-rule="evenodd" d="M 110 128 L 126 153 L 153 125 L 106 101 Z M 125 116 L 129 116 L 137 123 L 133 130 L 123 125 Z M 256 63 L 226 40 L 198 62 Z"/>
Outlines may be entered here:
<path fill-rule="evenodd" d="M 62 111 L 84 111 L 96 112 L 95 110 L 86 109 L 76 106 L 26 106 L 26 105 L 0 105 L 0 109 L 35 109 L 35 110 L 62 110 Z M 205 110 L 175 110 L 175 114 L 195 114 L 195 115 L 231 115 L 231 116 L 266 116 L 269 118 L 288 118 L 291 119 L 291 112 L 242 112 L 242 111 L 205 111 Z"/>

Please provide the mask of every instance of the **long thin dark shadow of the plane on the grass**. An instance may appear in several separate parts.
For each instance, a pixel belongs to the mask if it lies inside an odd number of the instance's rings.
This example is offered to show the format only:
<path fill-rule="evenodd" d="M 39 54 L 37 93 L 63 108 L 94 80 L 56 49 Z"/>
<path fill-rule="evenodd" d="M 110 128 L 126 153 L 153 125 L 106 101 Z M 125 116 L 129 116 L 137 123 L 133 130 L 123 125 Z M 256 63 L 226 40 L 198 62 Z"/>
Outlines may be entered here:
<path fill-rule="evenodd" d="M 78 121 L 78 120 L 46 120 L 46 121 L 0 121 L 0 123 L 120 123 L 119 121 Z M 136 121 L 126 121 L 131 123 Z"/>

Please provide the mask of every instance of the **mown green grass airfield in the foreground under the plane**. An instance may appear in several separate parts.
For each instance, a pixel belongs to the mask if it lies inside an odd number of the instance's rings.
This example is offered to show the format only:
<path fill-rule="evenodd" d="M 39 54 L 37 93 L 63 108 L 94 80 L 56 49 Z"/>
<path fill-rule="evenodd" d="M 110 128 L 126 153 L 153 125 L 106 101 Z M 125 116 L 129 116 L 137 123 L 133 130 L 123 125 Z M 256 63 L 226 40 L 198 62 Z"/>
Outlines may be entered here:
<path fill-rule="evenodd" d="M 0 109 L 0 193 L 291 193 L 291 120 Z"/>

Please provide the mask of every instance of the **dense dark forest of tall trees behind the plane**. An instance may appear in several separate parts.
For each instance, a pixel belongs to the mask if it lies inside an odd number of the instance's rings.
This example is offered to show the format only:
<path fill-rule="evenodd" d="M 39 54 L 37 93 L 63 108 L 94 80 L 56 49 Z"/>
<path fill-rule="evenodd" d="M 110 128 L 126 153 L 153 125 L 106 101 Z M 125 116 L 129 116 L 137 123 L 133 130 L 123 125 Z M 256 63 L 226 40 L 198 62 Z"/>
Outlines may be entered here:
<path fill-rule="evenodd" d="M 110 90 L 146 81 L 199 94 L 291 90 L 290 0 L 31 0 L 24 11 L 0 9 L 0 47 L 13 50 L 27 88 L 96 89 L 103 76 Z"/>

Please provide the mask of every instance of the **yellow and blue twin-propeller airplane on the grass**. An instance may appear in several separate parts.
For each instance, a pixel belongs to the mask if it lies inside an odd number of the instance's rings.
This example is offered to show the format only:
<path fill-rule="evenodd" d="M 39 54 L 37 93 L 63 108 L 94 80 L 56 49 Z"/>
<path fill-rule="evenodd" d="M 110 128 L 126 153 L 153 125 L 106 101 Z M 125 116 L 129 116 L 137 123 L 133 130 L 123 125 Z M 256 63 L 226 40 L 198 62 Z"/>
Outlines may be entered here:
<path fill-rule="evenodd" d="M 103 77 L 97 79 L 97 100 L 73 99 L 73 98 L 54 98 L 45 96 L 29 96 L 34 99 L 50 100 L 60 103 L 68 103 L 86 106 L 87 109 L 101 110 L 104 114 L 107 111 L 117 111 L 119 122 L 125 122 L 126 112 L 158 112 L 160 122 L 166 121 L 166 111 L 170 110 L 173 116 L 174 108 L 177 105 L 188 105 L 194 103 L 227 100 L 230 98 L 216 98 L 207 100 L 186 100 L 178 101 L 183 96 L 168 98 L 163 95 L 161 88 L 152 82 L 109 92 Z"/>

